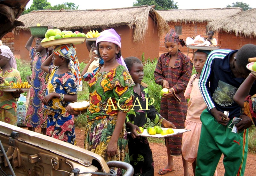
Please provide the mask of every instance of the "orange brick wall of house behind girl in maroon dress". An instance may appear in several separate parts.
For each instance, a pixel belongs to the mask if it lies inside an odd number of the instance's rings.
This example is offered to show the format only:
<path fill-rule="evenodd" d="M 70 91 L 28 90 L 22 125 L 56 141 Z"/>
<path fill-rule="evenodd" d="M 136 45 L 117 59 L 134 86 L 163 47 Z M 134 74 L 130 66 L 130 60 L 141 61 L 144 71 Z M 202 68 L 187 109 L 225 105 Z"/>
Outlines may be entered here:
<path fill-rule="evenodd" d="M 187 37 L 193 37 L 200 35 L 201 37 L 208 37 L 206 34 L 206 25 L 207 23 L 169 23 L 170 28 L 175 29 L 175 26 L 182 26 L 181 27 L 181 35 L 179 35 L 180 39 L 183 39 L 186 41 Z M 214 38 L 217 39 L 218 44 L 218 33 L 215 33 Z M 165 45 L 164 45 L 164 36 L 160 37 L 160 52 L 166 52 Z M 188 53 L 187 47 L 179 47 L 180 51 L 184 54 Z M 189 52 L 192 52 L 189 51 Z"/>

